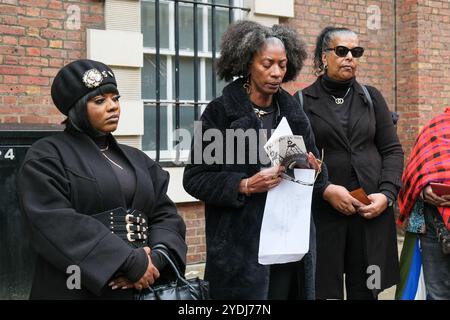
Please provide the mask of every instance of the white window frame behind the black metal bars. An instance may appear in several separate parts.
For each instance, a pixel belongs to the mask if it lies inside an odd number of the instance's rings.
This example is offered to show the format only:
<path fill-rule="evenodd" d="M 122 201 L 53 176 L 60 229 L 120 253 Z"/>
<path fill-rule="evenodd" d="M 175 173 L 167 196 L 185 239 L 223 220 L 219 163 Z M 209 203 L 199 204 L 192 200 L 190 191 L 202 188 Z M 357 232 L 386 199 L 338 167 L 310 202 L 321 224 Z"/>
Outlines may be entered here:
<path fill-rule="evenodd" d="M 202 0 L 203 3 L 208 3 L 207 0 Z M 234 6 L 243 6 L 243 0 L 233 0 Z M 166 60 L 166 100 L 160 100 L 160 104 L 164 105 L 164 108 L 167 108 L 167 150 L 160 150 L 159 152 L 159 161 L 161 162 L 170 162 L 174 161 L 177 156 L 176 149 L 173 148 L 172 142 L 173 142 L 173 117 L 175 116 L 175 105 L 172 103 L 168 103 L 169 101 L 175 100 L 175 97 L 173 95 L 172 90 L 172 83 L 173 83 L 173 64 L 175 62 L 175 3 L 173 1 L 160 1 L 160 3 L 166 3 L 169 5 L 169 49 L 167 48 L 160 48 L 160 59 Z M 183 5 L 182 2 L 179 3 L 180 6 Z M 192 7 L 192 4 L 188 4 L 186 6 Z M 203 6 L 202 8 L 202 23 L 201 28 L 203 29 L 203 46 L 199 48 L 197 56 L 199 57 L 199 101 L 198 103 L 201 103 L 200 111 L 203 112 L 206 108 L 207 103 L 210 100 L 206 99 L 206 59 L 212 58 L 212 52 L 208 51 L 208 44 L 210 41 L 210 33 L 208 33 L 208 26 L 211 23 L 210 17 L 208 17 L 208 6 Z M 216 8 L 216 10 L 220 10 L 220 8 Z M 227 9 L 223 9 L 227 10 Z M 242 10 L 234 10 L 234 15 L 236 17 L 236 20 L 242 19 L 244 17 L 244 14 Z M 216 58 L 220 56 L 220 53 L 218 52 L 219 48 L 216 48 Z M 156 55 L 156 48 L 151 47 L 144 47 L 144 55 L 151 54 Z M 179 50 L 179 57 L 194 57 L 194 51 L 187 51 L 187 50 Z M 213 75 L 214 76 L 214 75 Z M 156 105 L 145 105 L 145 103 L 152 102 L 155 103 L 155 99 L 143 99 L 144 101 L 144 108 L 154 108 Z M 194 103 L 194 100 L 180 100 L 180 103 Z M 145 129 L 144 129 L 145 130 Z M 178 161 L 186 161 L 189 157 L 189 151 L 190 150 L 181 150 L 179 154 Z M 144 150 L 144 152 L 151 158 L 156 158 L 156 150 Z"/>

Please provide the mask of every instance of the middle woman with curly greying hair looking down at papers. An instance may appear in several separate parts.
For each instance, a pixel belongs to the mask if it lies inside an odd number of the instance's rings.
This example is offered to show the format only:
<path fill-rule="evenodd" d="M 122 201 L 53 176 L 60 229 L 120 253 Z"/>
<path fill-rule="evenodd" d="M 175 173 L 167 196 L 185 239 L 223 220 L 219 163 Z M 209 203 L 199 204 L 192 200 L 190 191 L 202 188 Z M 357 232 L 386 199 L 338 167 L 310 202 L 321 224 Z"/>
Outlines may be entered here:
<path fill-rule="evenodd" d="M 258 257 L 266 195 L 281 183 L 281 176 L 293 179 L 294 167 L 321 172 L 314 184 L 319 197 L 327 183 L 326 168 L 320 171 L 316 160 L 319 152 L 308 118 L 297 100 L 281 87 L 294 80 L 302 68 L 305 45 L 288 27 L 240 21 L 224 33 L 221 50 L 218 76 L 227 81 L 237 79 L 208 104 L 201 128 L 204 137 L 226 132 L 226 137 L 222 136 L 226 141 L 218 146 L 215 136 L 214 141 L 206 138 L 202 143 L 196 133 L 191 150 L 194 163 L 186 166 L 183 178 L 186 191 L 205 202 L 205 279 L 211 297 L 314 299 L 313 221 L 309 252 L 303 260 L 267 265 L 259 263 Z M 303 137 L 309 153 L 285 156 L 280 165 L 271 167 L 264 144 L 283 118 L 293 134 Z"/>

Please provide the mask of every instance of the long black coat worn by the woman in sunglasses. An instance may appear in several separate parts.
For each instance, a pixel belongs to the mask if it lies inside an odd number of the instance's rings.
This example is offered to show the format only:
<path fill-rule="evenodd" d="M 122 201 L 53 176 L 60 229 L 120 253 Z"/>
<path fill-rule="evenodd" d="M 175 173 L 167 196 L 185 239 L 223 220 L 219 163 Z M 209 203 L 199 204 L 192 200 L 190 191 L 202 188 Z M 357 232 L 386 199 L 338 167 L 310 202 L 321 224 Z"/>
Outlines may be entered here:
<path fill-rule="evenodd" d="M 326 105 L 329 94 L 322 88 L 320 78 L 303 90 L 304 110 L 311 121 L 317 147 L 324 149 L 329 181 L 349 188 L 353 167 L 367 194 L 389 190 L 397 196 L 402 185 L 403 150 L 390 111 L 374 87 L 367 86 L 373 109 L 358 82 L 355 81 L 353 89 L 348 136 L 335 112 Z M 339 234 L 338 225 L 347 217 L 323 198 L 313 206 L 318 255 L 343 256 L 330 244 L 333 237 L 345 236 Z M 399 281 L 399 267 L 393 208 L 388 207 L 374 219 L 364 220 L 364 228 L 367 265 L 380 267 L 381 289 L 395 285 Z M 317 269 L 317 279 L 321 274 L 332 272 L 330 268 L 334 268 L 333 265 L 321 265 Z"/>

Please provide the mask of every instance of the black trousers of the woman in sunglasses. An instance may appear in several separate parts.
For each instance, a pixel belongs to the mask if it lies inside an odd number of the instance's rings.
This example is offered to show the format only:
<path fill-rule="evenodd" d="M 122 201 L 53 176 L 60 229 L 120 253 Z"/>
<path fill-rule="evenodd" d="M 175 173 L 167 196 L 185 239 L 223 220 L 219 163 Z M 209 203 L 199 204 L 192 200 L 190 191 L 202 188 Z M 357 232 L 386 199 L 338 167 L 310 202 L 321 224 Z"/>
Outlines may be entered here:
<path fill-rule="evenodd" d="M 334 230 L 317 234 L 317 299 L 343 299 L 344 274 L 348 300 L 377 299 L 367 287 L 369 275 L 363 219 L 354 214 L 342 219 Z M 324 253 L 323 248 L 327 246 L 334 250 Z"/>

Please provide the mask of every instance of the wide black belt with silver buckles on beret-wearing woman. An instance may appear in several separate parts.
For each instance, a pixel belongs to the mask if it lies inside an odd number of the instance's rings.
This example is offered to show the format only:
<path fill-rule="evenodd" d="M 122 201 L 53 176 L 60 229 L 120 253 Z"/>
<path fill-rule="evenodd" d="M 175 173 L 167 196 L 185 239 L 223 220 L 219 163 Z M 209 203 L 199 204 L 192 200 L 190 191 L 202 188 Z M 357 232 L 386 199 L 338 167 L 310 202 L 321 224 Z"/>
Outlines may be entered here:
<path fill-rule="evenodd" d="M 139 248 L 147 245 L 147 217 L 139 210 L 122 207 L 92 215 L 102 222 L 111 233 L 117 234 L 125 242 Z"/>

